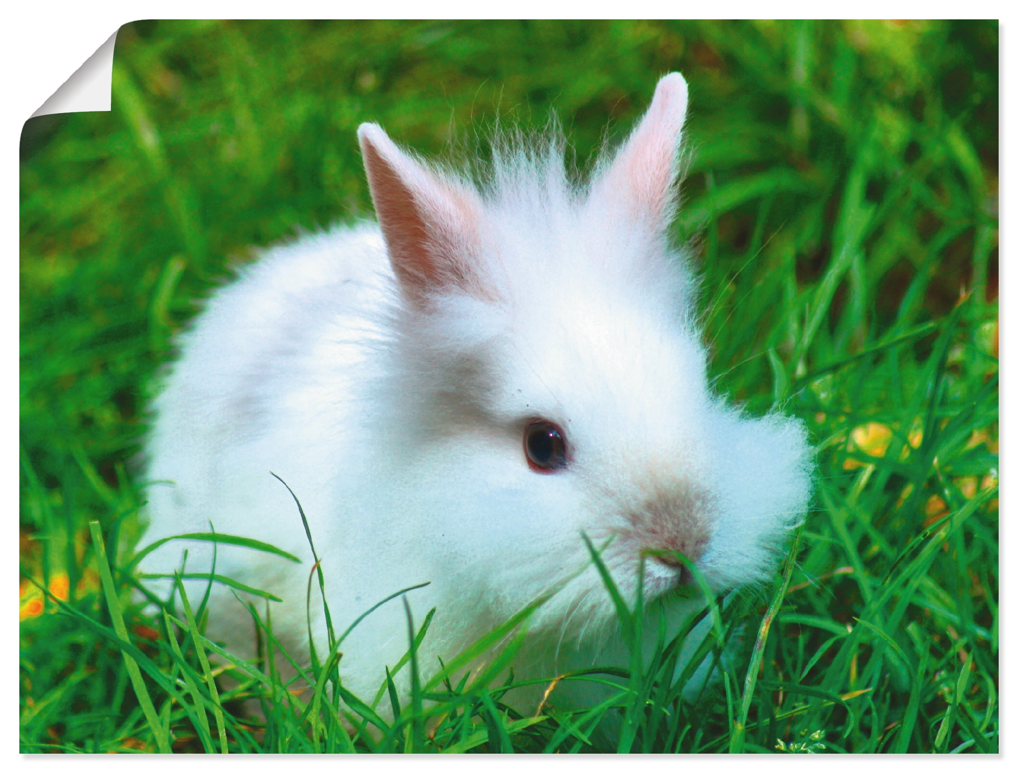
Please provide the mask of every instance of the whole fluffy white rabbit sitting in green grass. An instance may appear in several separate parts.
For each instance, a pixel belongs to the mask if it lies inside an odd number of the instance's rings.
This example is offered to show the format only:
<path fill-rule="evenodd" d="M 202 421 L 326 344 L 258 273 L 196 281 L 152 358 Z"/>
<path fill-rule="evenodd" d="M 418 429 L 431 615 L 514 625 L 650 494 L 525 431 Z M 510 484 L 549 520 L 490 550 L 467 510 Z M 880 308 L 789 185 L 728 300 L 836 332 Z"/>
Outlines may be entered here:
<path fill-rule="evenodd" d="M 630 599 L 644 549 L 684 553 L 719 590 L 769 577 L 807 506 L 810 451 L 801 422 L 709 389 L 694 282 L 667 239 L 686 100 L 681 75 L 662 78 L 583 186 L 554 139 L 502 146 L 477 184 L 362 124 L 378 225 L 267 251 L 182 337 L 148 444 L 149 479 L 172 485 L 151 488 L 146 541 L 211 520 L 299 555 L 221 545 L 217 573 L 280 596 L 274 628 L 306 657 L 314 561 L 272 471 L 306 513 L 337 630 L 431 583 L 408 595 L 418 623 L 437 608 L 431 672 L 558 585 L 517 672 L 617 657 L 582 533 Z M 172 572 L 183 547 L 209 571 L 210 545 L 181 542 L 143 569 Z M 648 596 L 688 579 L 673 563 L 647 561 Z M 317 582 L 310 610 L 322 653 Z M 406 632 L 399 601 L 365 618 L 341 648 L 345 686 L 374 696 Z M 221 586 L 210 633 L 253 655 Z"/>

